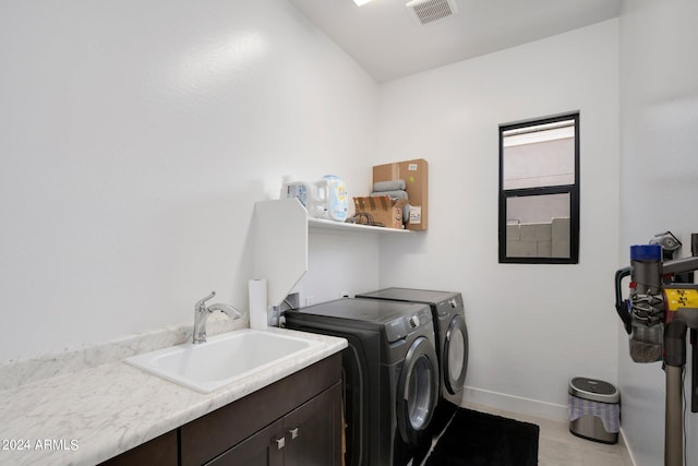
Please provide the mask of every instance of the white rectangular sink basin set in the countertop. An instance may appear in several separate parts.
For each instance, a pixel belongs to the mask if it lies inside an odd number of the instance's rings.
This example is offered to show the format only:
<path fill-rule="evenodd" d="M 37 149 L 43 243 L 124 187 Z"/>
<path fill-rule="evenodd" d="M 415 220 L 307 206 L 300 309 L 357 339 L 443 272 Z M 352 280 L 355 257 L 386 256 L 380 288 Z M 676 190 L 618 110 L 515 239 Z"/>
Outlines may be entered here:
<path fill-rule="evenodd" d="M 288 362 L 320 342 L 257 330 L 210 336 L 202 344 L 184 344 L 133 356 L 124 362 L 202 393 Z"/>

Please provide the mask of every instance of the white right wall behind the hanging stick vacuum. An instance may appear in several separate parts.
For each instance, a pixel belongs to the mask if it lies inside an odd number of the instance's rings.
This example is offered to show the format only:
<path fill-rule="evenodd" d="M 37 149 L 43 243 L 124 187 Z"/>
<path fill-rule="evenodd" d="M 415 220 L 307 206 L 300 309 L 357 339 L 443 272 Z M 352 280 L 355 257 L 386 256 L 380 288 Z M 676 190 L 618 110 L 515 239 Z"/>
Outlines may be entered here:
<path fill-rule="evenodd" d="M 629 246 L 667 229 L 690 254 L 698 232 L 698 3 L 694 0 L 626 1 L 621 14 L 621 243 Z M 625 339 L 625 333 L 622 332 Z M 690 362 L 690 357 L 688 357 Z M 663 462 L 664 372 L 637 365 L 618 347 L 623 427 L 637 466 Z M 686 381 L 690 380 L 690 370 Z M 689 387 L 689 383 L 686 384 Z M 688 398 L 689 399 L 689 398 Z M 688 402 L 690 403 L 690 402 Z M 687 409 L 688 464 L 698 457 L 698 416 Z M 694 458 L 691 461 L 691 458 Z"/>

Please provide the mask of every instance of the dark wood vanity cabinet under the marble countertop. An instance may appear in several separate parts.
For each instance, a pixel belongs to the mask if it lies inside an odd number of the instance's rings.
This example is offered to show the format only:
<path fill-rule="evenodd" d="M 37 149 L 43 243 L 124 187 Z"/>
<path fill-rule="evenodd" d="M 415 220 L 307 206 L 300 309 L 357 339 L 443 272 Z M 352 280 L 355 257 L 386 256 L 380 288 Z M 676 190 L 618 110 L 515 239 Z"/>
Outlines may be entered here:
<path fill-rule="evenodd" d="M 341 466 L 341 405 L 335 354 L 105 465 Z"/>

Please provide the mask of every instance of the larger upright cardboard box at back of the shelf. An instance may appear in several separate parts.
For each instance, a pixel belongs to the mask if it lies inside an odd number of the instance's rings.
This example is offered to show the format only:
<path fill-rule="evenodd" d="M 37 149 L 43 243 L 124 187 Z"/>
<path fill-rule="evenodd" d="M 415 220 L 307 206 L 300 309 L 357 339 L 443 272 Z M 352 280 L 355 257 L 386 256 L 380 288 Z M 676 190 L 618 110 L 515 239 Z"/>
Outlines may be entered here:
<path fill-rule="evenodd" d="M 429 226 L 429 166 L 423 158 L 395 162 L 373 167 L 373 182 L 405 180 L 410 208 L 406 225 L 410 230 L 425 230 Z"/>

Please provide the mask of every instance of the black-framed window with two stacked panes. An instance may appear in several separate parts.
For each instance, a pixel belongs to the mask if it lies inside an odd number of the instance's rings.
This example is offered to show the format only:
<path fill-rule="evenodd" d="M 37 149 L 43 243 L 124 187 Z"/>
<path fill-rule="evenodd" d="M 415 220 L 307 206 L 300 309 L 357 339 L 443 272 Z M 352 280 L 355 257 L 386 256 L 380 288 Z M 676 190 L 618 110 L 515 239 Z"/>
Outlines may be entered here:
<path fill-rule="evenodd" d="M 500 126 L 500 262 L 579 263 L 579 112 Z"/>

